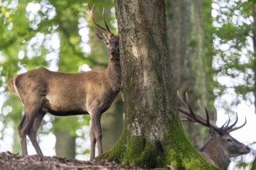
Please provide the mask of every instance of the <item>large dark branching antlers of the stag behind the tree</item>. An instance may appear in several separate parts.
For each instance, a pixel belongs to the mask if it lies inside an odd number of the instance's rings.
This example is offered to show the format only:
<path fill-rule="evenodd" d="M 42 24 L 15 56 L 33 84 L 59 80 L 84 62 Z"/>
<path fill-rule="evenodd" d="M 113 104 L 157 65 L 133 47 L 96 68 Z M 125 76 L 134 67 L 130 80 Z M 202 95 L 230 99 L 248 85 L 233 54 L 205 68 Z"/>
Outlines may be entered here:
<path fill-rule="evenodd" d="M 218 128 L 216 126 L 216 110 L 214 111 L 214 117 L 215 117 L 214 121 L 210 121 L 209 120 L 209 111 L 206 108 L 205 108 L 206 117 L 202 117 L 202 116 L 194 113 L 194 111 L 192 110 L 192 107 L 189 104 L 189 97 L 188 97 L 187 93 L 186 93 L 187 103 L 185 103 L 185 101 L 182 100 L 182 97 L 180 97 L 178 92 L 177 92 L 177 96 L 178 96 L 178 99 L 180 100 L 180 102 L 182 103 L 182 107 L 178 108 L 178 110 L 180 112 L 179 115 L 180 115 L 182 121 L 198 122 L 199 124 L 202 124 L 208 128 L 213 128 L 215 131 L 219 132 L 220 134 L 228 134 L 231 131 L 236 131 L 237 129 L 244 127 L 244 125 L 247 122 L 245 119 L 244 124 L 242 124 L 241 126 L 239 126 L 237 128 L 234 128 L 234 126 L 237 124 L 237 121 L 238 121 L 238 117 L 236 114 L 237 119 L 236 119 L 236 121 L 234 121 L 233 124 L 230 125 L 230 117 L 229 117 L 228 121 L 225 124 L 223 124 L 223 126 L 221 128 Z M 200 104 L 199 104 L 199 108 L 202 111 L 202 113 L 204 113 L 202 106 Z"/>

